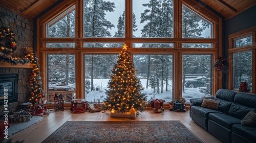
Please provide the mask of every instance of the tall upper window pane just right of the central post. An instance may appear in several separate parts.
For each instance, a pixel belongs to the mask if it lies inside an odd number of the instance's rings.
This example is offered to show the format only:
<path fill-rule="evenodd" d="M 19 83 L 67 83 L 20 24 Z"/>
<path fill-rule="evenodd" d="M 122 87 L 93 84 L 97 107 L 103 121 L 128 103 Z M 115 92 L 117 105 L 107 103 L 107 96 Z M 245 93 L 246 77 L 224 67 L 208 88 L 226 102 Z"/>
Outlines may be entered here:
<path fill-rule="evenodd" d="M 173 1 L 133 1 L 133 37 L 174 37 Z"/>

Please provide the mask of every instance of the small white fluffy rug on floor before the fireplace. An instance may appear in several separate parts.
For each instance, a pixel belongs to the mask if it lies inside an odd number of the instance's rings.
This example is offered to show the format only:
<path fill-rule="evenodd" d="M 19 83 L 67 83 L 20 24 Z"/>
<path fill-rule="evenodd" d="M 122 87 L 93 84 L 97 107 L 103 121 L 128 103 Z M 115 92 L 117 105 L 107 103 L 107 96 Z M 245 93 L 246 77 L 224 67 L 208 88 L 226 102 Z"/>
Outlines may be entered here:
<path fill-rule="evenodd" d="M 42 120 L 42 116 L 32 116 L 30 118 L 30 121 L 23 122 L 23 123 L 13 123 L 11 124 L 11 127 L 8 128 L 8 136 L 11 136 L 17 132 L 20 132 L 22 130 L 25 130 L 29 128 L 30 126 L 40 122 Z"/>

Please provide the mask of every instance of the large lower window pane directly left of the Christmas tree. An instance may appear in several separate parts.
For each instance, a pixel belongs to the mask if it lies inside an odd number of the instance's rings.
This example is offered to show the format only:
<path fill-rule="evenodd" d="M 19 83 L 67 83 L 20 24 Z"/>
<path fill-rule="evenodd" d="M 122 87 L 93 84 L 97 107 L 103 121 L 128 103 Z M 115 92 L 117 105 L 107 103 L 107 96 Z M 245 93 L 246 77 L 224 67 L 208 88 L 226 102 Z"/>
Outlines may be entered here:
<path fill-rule="evenodd" d="M 106 98 L 111 70 L 118 55 L 84 55 L 85 99 L 89 102 L 102 102 Z"/>

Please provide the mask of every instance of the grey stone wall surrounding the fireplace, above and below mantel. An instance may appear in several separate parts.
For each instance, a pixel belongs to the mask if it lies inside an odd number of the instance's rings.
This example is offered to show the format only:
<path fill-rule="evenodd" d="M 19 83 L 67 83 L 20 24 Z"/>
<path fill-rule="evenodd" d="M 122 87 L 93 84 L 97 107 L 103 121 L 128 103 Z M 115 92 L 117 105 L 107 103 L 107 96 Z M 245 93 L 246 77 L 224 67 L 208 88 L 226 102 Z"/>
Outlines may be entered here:
<path fill-rule="evenodd" d="M 16 35 L 17 49 L 12 57 L 24 58 L 23 47 L 33 46 L 33 21 L 30 21 L 2 6 L 0 6 L 0 27 L 10 28 Z M 18 102 L 8 104 L 9 112 L 15 112 L 19 104 L 28 102 L 30 95 L 31 68 L 1 68 L 0 74 L 18 74 Z M 3 113 L 0 106 L 0 115 Z"/>

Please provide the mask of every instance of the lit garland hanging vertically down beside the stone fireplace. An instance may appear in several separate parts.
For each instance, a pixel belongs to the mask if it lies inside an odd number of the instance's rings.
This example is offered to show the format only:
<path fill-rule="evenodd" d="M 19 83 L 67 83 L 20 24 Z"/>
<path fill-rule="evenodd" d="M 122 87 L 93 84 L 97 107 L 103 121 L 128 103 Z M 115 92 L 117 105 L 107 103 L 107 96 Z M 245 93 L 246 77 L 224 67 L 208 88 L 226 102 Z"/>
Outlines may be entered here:
<path fill-rule="evenodd" d="M 31 73 L 30 78 L 30 88 L 31 88 L 31 94 L 29 101 L 34 103 L 44 103 L 44 97 L 45 93 L 42 89 L 42 80 L 40 77 L 40 66 L 38 63 L 37 55 L 33 53 L 32 47 L 26 47 L 27 56 L 25 56 L 27 59 L 30 60 L 30 63 L 33 64 L 33 70 Z"/>

